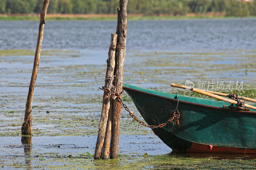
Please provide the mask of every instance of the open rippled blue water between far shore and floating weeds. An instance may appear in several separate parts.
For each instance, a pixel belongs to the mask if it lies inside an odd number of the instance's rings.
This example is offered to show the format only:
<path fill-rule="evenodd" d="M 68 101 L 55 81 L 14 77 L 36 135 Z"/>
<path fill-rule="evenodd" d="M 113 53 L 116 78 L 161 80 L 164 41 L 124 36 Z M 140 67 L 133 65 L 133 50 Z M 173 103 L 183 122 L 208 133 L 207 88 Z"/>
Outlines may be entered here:
<path fill-rule="evenodd" d="M 37 21 L 0 21 L 0 49 L 34 49 Z M 127 51 L 255 49 L 256 18 L 128 21 Z M 107 49 L 115 21 L 47 21 L 43 49 Z"/>

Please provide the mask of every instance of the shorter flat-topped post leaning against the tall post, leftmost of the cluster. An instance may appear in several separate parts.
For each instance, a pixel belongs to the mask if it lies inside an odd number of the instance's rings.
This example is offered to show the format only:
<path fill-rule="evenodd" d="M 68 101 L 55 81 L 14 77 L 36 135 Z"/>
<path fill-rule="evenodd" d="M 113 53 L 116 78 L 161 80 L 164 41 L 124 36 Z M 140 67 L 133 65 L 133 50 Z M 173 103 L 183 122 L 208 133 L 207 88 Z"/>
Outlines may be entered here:
<path fill-rule="evenodd" d="M 107 62 L 108 65 L 107 65 L 106 79 L 105 79 L 105 87 L 110 90 L 113 86 L 114 70 L 115 70 L 115 64 L 116 64 L 116 49 L 115 49 L 116 41 L 117 41 L 117 34 L 112 33 L 110 48 L 108 51 L 108 62 Z M 102 147 L 105 139 L 105 134 L 106 134 L 109 108 L 110 108 L 110 94 L 104 91 L 100 124 L 99 124 L 99 133 L 98 133 L 98 138 L 97 138 L 95 152 L 94 152 L 94 159 L 100 159 L 100 155 L 102 152 Z"/>

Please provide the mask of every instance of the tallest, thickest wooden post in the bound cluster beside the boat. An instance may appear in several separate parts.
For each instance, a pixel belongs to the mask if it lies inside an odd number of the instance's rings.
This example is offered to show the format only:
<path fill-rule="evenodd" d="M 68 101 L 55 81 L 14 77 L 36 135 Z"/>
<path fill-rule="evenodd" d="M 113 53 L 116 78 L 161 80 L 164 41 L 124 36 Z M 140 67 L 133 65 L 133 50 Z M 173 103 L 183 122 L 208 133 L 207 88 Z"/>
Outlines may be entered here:
<path fill-rule="evenodd" d="M 123 75 L 124 75 L 124 59 L 126 53 L 126 34 L 127 34 L 127 2 L 128 0 L 120 0 L 120 17 L 119 17 L 119 33 L 118 33 L 118 45 L 119 48 L 116 51 L 116 77 L 115 87 L 116 92 L 120 93 L 123 89 Z M 122 95 L 120 96 L 122 97 Z M 118 142 L 119 142 L 119 130 L 120 130 L 120 114 L 121 103 L 117 100 L 113 102 L 113 120 L 112 120 L 112 134 L 110 143 L 110 159 L 116 159 L 118 157 Z"/>

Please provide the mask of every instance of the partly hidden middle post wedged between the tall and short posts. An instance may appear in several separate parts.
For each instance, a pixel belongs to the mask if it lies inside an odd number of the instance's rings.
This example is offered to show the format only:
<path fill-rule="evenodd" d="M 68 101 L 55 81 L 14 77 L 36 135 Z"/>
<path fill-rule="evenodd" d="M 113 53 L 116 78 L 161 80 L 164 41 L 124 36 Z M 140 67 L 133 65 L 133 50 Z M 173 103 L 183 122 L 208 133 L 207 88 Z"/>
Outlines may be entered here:
<path fill-rule="evenodd" d="M 119 10 L 119 8 L 117 8 L 117 26 L 116 26 L 116 34 L 117 35 L 119 33 L 119 17 L 120 17 L 120 10 Z M 102 159 L 108 159 L 108 155 L 109 155 L 112 120 L 113 120 L 113 101 L 114 100 L 112 98 L 110 98 L 110 108 L 109 108 L 109 112 L 108 112 L 108 123 L 107 123 L 107 129 L 106 129 L 105 140 L 104 140 L 104 145 L 103 145 Z"/>

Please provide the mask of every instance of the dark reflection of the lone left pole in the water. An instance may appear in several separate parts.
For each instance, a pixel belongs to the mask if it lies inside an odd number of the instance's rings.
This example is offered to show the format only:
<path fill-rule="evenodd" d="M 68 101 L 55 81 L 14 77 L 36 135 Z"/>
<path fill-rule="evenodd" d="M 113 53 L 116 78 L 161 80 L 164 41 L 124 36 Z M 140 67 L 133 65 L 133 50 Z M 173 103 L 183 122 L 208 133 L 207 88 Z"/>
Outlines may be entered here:
<path fill-rule="evenodd" d="M 26 169 L 31 169 L 32 137 L 21 137 L 21 144 L 24 147 Z"/>

